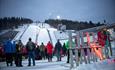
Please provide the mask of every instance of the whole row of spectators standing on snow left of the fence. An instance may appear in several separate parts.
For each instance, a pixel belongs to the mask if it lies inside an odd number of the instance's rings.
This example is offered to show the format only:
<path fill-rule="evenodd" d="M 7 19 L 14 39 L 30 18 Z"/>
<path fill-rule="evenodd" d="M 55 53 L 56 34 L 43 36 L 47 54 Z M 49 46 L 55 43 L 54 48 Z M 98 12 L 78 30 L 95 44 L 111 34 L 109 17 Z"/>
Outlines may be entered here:
<path fill-rule="evenodd" d="M 35 66 L 35 58 L 37 57 L 41 57 L 41 59 L 47 58 L 48 62 L 51 62 L 53 55 L 57 57 L 57 61 L 61 61 L 62 54 L 67 55 L 65 43 L 62 46 L 59 40 L 55 44 L 55 47 L 50 41 L 47 43 L 47 45 L 44 45 L 44 43 L 42 42 L 41 45 L 38 46 L 34 42 L 32 42 L 31 38 L 29 38 L 25 46 L 23 45 L 21 40 L 13 41 L 13 43 L 11 40 L 8 40 L 4 43 L 4 53 L 7 66 L 9 66 L 9 64 L 10 66 L 12 66 L 14 61 L 17 67 L 23 67 L 23 48 L 26 48 L 25 51 L 27 51 L 28 66 L 31 66 L 31 59 L 33 62 L 33 66 Z"/>

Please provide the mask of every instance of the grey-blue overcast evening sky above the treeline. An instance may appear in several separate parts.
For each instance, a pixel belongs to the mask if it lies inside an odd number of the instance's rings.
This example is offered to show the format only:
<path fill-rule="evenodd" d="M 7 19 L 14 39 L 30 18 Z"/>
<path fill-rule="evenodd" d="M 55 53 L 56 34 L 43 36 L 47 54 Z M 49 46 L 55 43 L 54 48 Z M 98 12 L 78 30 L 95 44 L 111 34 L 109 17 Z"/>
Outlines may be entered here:
<path fill-rule="evenodd" d="M 115 0 L 0 0 L 0 17 L 115 22 Z"/>

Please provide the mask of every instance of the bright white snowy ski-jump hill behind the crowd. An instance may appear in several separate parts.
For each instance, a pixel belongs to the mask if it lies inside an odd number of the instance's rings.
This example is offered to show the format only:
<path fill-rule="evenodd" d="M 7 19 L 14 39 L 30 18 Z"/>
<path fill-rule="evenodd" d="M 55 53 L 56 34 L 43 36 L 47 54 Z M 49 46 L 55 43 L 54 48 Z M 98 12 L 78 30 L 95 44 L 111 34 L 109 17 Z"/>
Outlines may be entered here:
<path fill-rule="evenodd" d="M 14 40 L 21 39 L 23 44 L 25 45 L 29 39 L 29 37 L 32 38 L 32 41 L 41 44 L 43 42 L 45 45 L 48 41 L 50 41 L 49 34 L 51 36 L 51 40 L 53 45 L 55 45 L 58 38 L 56 38 L 59 34 L 55 33 L 57 29 L 50 27 L 48 24 L 44 23 L 33 23 L 30 25 L 25 25 L 19 29 L 16 29 L 17 31 L 20 31 L 17 36 L 14 38 Z M 49 32 L 49 33 L 48 33 Z M 56 34 L 56 35 L 55 35 Z M 63 42 L 62 42 L 63 43 Z"/>

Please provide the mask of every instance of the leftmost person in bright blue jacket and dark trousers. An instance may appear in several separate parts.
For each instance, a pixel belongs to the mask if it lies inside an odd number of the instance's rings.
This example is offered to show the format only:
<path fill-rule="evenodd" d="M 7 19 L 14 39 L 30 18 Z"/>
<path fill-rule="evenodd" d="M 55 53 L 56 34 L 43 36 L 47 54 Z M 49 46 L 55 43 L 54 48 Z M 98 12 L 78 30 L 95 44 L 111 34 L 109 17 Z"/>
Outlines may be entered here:
<path fill-rule="evenodd" d="M 4 53 L 5 53 L 5 56 L 6 56 L 6 64 L 7 66 L 12 66 L 12 62 L 13 62 L 13 57 L 12 57 L 12 43 L 11 43 L 11 40 L 8 40 L 5 42 L 4 44 Z"/>

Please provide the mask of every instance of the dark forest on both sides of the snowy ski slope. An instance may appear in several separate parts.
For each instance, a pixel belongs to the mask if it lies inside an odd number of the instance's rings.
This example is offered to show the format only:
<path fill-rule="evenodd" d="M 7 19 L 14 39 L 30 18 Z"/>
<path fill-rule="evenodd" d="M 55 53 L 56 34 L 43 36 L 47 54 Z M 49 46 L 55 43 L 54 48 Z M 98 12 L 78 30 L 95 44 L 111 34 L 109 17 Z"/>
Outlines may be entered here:
<path fill-rule="evenodd" d="M 44 22 L 48 23 L 54 28 L 57 28 L 58 24 L 63 24 L 63 25 L 66 25 L 66 28 L 69 30 L 82 30 L 82 29 L 104 25 L 100 22 L 93 23 L 92 21 L 83 22 L 83 21 L 72 21 L 72 20 L 67 20 L 67 19 L 60 19 L 60 20 L 59 19 L 47 19 Z M 17 28 L 20 25 L 30 24 L 30 23 L 33 23 L 33 20 L 29 18 L 4 17 L 4 18 L 0 18 L 0 30 L 13 29 L 13 28 Z"/>

